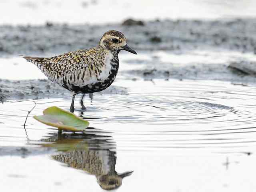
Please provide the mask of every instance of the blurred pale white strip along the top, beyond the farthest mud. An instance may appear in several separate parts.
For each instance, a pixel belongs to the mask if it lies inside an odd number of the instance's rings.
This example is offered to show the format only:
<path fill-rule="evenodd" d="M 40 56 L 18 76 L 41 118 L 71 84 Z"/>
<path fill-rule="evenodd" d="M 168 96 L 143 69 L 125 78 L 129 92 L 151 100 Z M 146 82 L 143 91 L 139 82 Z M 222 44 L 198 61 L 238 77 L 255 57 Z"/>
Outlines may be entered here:
<path fill-rule="evenodd" d="M 255 16 L 254 0 L 2 0 L 1 24 L 106 24 L 127 18 L 220 19 Z"/>

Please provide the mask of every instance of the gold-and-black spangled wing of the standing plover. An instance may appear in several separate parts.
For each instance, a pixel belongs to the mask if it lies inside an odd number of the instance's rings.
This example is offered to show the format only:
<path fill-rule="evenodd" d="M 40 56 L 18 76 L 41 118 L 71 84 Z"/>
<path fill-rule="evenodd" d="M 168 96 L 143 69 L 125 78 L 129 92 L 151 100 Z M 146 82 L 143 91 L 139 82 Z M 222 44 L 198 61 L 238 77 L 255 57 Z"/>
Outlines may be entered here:
<path fill-rule="evenodd" d="M 50 58 L 23 56 L 34 63 L 53 82 L 60 85 L 68 82 L 73 85 L 87 85 L 98 82 L 97 78 L 104 66 L 104 52 L 99 47 L 68 52 Z"/>

